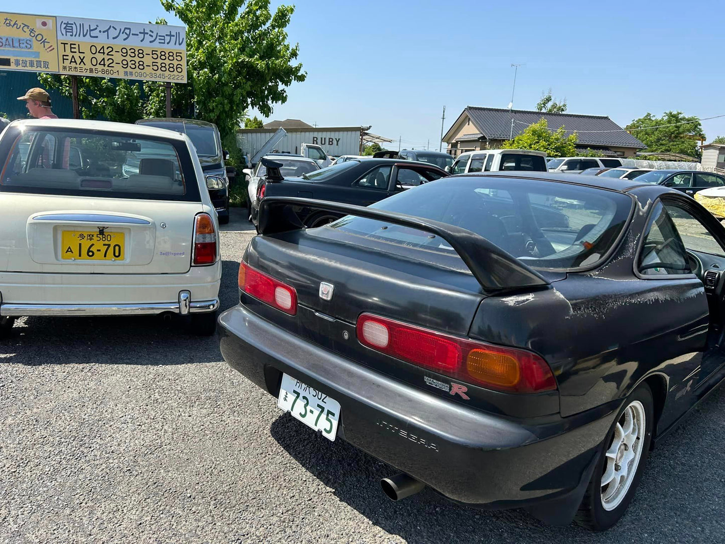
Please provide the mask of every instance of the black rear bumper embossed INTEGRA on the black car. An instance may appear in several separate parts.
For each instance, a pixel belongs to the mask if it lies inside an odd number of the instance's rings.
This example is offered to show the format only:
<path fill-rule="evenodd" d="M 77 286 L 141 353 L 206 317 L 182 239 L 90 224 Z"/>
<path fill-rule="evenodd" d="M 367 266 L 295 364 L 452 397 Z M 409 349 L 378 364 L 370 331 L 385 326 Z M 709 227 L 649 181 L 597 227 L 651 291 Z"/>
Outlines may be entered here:
<path fill-rule="evenodd" d="M 225 360 L 252 382 L 274 396 L 282 373 L 315 387 L 341 405 L 339 437 L 471 506 L 571 522 L 614 417 L 606 408 L 539 426 L 511 421 L 341 358 L 242 305 L 218 323 Z"/>

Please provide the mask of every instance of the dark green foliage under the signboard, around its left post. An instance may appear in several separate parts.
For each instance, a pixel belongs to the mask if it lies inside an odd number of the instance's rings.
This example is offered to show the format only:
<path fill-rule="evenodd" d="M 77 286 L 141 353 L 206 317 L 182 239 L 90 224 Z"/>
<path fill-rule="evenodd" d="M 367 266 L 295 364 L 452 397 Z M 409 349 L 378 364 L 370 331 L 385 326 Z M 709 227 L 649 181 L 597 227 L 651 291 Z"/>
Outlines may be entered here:
<path fill-rule="evenodd" d="M 70 75 L 38 74 L 44 88 L 54 88 L 63 96 L 72 96 Z M 124 79 L 78 78 L 78 107 L 83 119 L 106 118 L 133 123 L 141 118 L 141 86 Z"/>

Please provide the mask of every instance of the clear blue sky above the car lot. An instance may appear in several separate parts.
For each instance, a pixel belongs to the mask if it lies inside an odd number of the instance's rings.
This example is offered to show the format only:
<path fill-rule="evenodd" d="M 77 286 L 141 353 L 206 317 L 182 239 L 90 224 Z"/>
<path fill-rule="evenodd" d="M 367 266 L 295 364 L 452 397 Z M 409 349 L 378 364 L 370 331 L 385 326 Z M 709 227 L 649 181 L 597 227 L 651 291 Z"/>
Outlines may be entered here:
<path fill-rule="evenodd" d="M 511 63 L 525 64 L 514 109 L 533 110 L 552 88 L 568 112 L 620 125 L 646 112 L 725 114 L 721 2 L 467 4 L 298 1 L 289 39 L 299 43 L 307 81 L 288 89 L 271 118 L 372 125 L 396 144 L 402 136 L 403 148 L 430 139 L 437 149 L 444 105 L 445 130 L 466 105 L 508 106 Z M 164 15 L 154 0 L 36 0 L 19 11 L 130 21 Z M 703 128 L 708 140 L 725 135 L 725 118 Z"/>

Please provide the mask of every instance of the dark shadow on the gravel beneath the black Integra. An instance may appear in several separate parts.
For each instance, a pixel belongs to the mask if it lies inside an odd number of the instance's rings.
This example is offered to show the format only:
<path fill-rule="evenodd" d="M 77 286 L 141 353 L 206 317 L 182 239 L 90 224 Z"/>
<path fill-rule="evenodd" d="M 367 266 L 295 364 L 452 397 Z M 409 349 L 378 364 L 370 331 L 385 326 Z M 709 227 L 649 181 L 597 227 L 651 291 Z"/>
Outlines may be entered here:
<path fill-rule="evenodd" d="M 697 542 L 701 532 L 714 540 L 723 537 L 721 519 L 725 512 L 716 495 L 725 481 L 725 461 L 722 456 L 713 459 L 712 453 L 725 446 L 721 432 L 724 413 L 725 391 L 721 389 L 653 452 L 629 511 L 605 533 L 589 532 L 576 524 L 550 527 L 523 510 L 484 511 L 459 506 L 428 488 L 395 503 L 380 488 L 381 478 L 397 472 L 385 463 L 343 440 L 330 442 L 318 437 L 289 414 L 276 419 L 270 431 L 282 448 L 331 487 L 337 498 L 410 543 L 539 540 L 611 544 L 629 543 L 633 534 L 653 542 L 670 540 L 674 535 L 682 537 L 675 537 L 680 542 Z M 682 465 L 683 457 L 690 458 L 686 466 Z M 688 526 L 692 531 L 685 529 Z"/>

